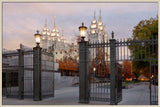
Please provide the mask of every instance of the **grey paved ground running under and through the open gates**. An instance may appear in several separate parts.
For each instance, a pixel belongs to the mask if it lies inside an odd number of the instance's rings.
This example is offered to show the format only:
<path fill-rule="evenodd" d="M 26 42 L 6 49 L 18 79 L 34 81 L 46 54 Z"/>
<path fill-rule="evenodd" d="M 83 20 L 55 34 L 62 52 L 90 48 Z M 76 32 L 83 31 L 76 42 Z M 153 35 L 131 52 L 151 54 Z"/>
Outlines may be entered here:
<path fill-rule="evenodd" d="M 4 105 L 79 105 L 79 87 L 66 87 L 55 90 L 55 97 L 32 101 L 3 97 Z M 107 105 L 105 102 L 90 102 L 89 105 Z M 80 104 L 83 105 L 83 104 Z M 123 100 L 119 105 L 149 105 L 149 86 L 137 85 L 130 89 L 123 89 Z"/>

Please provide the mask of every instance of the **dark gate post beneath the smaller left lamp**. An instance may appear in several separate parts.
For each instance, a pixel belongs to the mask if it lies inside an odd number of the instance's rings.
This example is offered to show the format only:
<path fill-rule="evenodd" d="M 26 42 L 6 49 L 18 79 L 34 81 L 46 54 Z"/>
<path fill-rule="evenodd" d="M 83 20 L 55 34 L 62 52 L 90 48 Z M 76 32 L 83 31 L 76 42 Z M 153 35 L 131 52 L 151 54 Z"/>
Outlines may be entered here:
<path fill-rule="evenodd" d="M 40 46 L 33 48 L 33 100 L 40 101 L 41 93 L 41 49 Z"/>

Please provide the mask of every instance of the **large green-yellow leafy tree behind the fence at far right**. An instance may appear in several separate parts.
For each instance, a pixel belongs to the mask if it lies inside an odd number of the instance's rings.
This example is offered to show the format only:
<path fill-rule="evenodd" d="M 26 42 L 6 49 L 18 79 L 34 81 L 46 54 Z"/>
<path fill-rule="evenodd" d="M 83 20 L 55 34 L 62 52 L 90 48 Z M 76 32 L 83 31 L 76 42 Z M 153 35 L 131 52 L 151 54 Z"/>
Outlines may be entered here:
<path fill-rule="evenodd" d="M 142 20 L 133 29 L 133 41 L 134 40 L 151 40 L 158 38 L 158 17 L 150 18 L 149 20 Z M 129 46 L 132 52 L 133 59 L 153 59 L 158 58 L 157 45 L 139 45 L 139 46 Z M 154 50 L 153 50 L 154 49 Z M 133 71 L 136 76 L 140 74 L 149 77 L 149 61 L 132 61 Z"/>

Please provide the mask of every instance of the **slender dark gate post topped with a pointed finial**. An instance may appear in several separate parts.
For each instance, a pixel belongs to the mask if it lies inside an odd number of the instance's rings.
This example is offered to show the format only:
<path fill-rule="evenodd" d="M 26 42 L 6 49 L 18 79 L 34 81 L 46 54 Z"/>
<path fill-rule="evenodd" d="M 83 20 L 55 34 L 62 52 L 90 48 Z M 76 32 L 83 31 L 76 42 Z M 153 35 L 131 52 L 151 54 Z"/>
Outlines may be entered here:
<path fill-rule="evenodd" d="M 110 41 L 110 104 L 117 105 L 117 89 L 116 89 L 116 40 L 112 31 L 112 39 Z"/>

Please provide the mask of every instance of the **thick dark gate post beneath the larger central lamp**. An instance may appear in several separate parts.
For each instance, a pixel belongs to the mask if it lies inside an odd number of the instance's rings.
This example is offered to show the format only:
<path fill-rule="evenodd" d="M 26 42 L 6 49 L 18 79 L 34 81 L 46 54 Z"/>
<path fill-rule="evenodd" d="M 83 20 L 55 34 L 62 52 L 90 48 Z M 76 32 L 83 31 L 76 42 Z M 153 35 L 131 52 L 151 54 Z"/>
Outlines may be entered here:
<path fill-rule="evenodd" d="M 79 42 L 79 103 L 89 103 L 88 41 Z"/>

